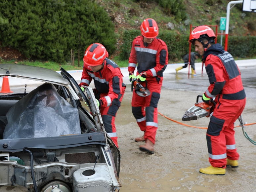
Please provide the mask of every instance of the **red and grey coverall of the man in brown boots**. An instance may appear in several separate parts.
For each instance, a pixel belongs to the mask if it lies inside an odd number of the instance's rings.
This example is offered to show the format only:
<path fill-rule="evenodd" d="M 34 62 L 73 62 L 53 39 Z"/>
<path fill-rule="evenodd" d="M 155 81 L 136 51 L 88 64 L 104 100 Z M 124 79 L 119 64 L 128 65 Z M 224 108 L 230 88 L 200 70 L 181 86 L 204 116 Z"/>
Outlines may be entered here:
<path fill-rule="evenodd" d="M 150 44 L 143 42 L 143 36 L 138 36 L 133 40 L 131 54 L 129 58 L 128 71 L 134 72 L 137 67 L 137 75 L 147 73 L 142 86 L 149 89 L 151 94 L 146 97 L 138 96 L 133 91 L 132 113 L 141 131 L 145 132 L 145 140 L 149 139 L 155 143 L 157 130 L 157 104 L 163 82 L 163 71 L 168 64 L 168 51 L 164 41 L 154 38 Z"/>

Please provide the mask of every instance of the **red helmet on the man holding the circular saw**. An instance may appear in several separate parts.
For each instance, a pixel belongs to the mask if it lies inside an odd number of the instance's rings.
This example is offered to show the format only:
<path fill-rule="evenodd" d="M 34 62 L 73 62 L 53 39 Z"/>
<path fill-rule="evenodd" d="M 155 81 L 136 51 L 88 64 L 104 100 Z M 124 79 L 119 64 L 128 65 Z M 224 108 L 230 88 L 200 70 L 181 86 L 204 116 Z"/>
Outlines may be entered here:
<path fill-rule="evenodd" d="M 141 34 L 146 38 L 155 38 L 158 35 L 158 26 L 154 19 L 145 19 L 141 24 Z"/>

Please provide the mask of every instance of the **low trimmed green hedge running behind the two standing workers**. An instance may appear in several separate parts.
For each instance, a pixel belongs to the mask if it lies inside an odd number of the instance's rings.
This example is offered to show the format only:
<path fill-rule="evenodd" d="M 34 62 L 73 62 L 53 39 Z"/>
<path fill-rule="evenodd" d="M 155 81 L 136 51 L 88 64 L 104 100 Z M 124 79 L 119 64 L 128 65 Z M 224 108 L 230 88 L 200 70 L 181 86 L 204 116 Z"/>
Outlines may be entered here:
<path fill-rule="evenodd" d="M 120 59 L 126 60 L 130 56 L 132 41 L 135 37 L 141 35 L 140 30 L 125 30 L 122 33 L 123 44 L 120 46 Z M 159 32 L 158 38 L 162 39 L 168 48 L 169 60 L 174 61 L 181 59 L 189 53 L 189 35 L 179 35 L 173 31 Z M 218 36 L 217 42 L 220 43 L 221 38 Z M 223 46 L 225 36 L 223 36 Z M 194 46 L 191 46 L 194 51 Z M 256 56 L 256 36 L 229 36 L 228 52 L 233 57 L 250 58 Z"/>

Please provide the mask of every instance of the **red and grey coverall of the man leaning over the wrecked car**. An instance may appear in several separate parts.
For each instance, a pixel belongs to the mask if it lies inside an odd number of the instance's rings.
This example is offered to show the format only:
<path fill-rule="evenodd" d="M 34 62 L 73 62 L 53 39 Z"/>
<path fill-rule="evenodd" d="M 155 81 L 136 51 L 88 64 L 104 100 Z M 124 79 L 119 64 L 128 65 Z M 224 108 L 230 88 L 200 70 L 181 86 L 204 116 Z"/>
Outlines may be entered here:
<path fill-rule="evenodd" d="M 105 130 L 118 147 L 115 116 L 126 88 L 123 83 L 123 75 L 118 65 L 106 58 L 103 68 L 97 72 L 91 71 L 90 66 L 84 63 L 79 86 L 89 86 L 92 79 L 95 85 L 95 97 L 103 101 L 100 112 Z"/>

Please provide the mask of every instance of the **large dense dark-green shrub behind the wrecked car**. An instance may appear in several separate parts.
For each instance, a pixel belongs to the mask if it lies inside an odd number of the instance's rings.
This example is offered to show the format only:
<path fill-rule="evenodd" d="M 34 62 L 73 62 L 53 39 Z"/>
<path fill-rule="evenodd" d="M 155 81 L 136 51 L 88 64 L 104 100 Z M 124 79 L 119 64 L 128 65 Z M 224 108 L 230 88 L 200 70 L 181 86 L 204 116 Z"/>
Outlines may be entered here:
<path fill-rule="evenodd" d="M 64 62 L 92 43 L 115 51 L 114 24 L 91 0 L 0 1 L 0 41 L 26 58 Z"/>

